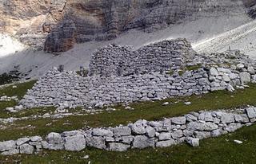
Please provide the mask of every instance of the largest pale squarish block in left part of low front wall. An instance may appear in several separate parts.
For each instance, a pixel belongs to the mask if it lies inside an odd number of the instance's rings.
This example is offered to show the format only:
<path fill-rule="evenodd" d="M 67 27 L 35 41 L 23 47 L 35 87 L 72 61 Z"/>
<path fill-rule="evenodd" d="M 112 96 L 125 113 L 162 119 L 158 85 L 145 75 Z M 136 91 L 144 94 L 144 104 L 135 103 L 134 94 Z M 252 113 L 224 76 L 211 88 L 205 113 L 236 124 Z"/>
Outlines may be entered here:
<path fill-rule="evenodd" d="M 65 149 L 70 151 L 80 151 L 86 148 L 86 139 L 83 135 L 69 136 L 64 139 Z"/>

